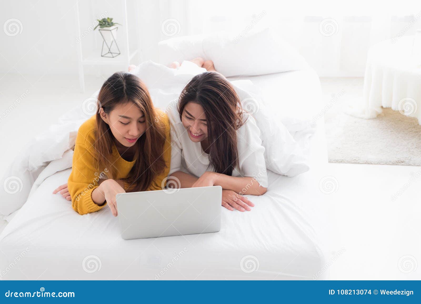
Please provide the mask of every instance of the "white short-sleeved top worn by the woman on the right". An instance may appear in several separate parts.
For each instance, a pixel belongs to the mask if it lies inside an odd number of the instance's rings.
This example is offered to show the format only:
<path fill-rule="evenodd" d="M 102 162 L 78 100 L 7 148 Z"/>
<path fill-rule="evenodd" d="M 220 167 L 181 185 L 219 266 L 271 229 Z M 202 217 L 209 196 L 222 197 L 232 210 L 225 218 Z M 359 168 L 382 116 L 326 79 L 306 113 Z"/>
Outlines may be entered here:
<path fill-rule="evenodd" d="M 200 142 L 190 140 L 181 122 L 177 102 L 178 100 L 173 100 L 166 111 L 171 125 L 170 175 L 183 171 L 200 177 L 206 171 L 214 172 L 213 166 L 209 165 L 209 154 L 203 151 Z M 267 188 L 264 147 L 253 116 L 248 115 L 246 122 L 237 130 L 237 153 L 238 166 L 232 171 L 232 176 L 254 177 L 259 185 Z"/>

